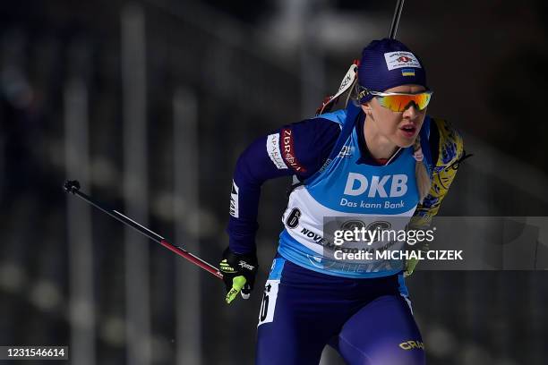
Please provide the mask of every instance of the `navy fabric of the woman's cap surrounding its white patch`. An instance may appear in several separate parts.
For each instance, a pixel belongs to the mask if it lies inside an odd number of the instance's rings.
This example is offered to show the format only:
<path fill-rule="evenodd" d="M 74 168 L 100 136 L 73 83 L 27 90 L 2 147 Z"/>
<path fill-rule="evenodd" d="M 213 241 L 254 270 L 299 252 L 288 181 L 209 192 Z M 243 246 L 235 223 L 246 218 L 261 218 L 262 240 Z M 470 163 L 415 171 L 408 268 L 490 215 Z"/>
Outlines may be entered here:
<path fill-rule="evenodd" d="M 415 57 L 421 64 L 421 67 L 409 66 L 413 70 L 413 75 L 404 76 L 401 68 L 389 70 L 385 54 L 390 52 L 410 52 L 406 45 L 396 39 L 384 38 L 373 40 L 362 51 L 362 59 L 358 66 L 358 83 L 365 89 L 373 91 L 384 91 L 399 85 L 417 84 L 426 87 L 426 72 L 424 64 L 415 53 Z M 364 103 L 372 99 L 371 95 L 360 99 Z"/>

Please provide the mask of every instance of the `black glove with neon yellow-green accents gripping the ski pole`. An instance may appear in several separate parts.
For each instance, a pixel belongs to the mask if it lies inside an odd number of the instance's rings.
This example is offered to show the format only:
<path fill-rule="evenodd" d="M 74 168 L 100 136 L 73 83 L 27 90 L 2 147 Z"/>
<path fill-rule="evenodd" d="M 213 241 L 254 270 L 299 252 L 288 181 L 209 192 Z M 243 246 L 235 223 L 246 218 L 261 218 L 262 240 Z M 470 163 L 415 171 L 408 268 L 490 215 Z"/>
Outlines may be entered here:
<path fill-rule="evenodd" d="M 227 303 L 234 301 L 238 293 L 242 293 L 242 298 L 248 299 L 259 267 L 257 256 L 255 254 L 239 255 L 227 248 L 218 265 L 227 287 L 225 299 Z"/>

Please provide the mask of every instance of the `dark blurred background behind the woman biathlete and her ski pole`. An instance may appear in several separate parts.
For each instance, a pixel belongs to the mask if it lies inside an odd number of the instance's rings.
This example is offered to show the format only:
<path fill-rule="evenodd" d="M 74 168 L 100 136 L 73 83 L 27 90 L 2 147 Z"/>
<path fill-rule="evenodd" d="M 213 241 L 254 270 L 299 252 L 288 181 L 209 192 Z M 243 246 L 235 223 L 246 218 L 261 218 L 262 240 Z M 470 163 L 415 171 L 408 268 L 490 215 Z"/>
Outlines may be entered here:
<path fill-rule="evenodd" d="M 21 0 L 0 7 L 0 344 L 71 363 L 251 364 L 261 289 L 224 286 L 62 190 L 217 265 L 231 175 L 255 138 L 314 115 L 396 1 Z M 468 153 L 443 216 L 547 216 L 548 5 L 408 0 L 398 39 Z M 264 185 L 263 283 L 286 180 Z M 544 364 L 546 271 L 417 271 L 429 364 Z M 258 285 L 261 288 L 261 284 Z M 321 364 L 341 364 L 324 352 Z"/>

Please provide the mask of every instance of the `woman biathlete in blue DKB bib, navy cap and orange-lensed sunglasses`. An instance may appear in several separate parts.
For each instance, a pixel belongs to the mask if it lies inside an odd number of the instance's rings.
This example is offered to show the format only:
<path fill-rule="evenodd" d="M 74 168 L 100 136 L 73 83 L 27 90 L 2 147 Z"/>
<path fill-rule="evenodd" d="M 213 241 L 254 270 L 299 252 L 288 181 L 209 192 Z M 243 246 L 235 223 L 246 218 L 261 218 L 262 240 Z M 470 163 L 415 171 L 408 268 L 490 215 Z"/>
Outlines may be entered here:
<path fill-rule="evenodd" d="M 326 216 L 428 225 L 463 156 L 458 132 L 426 115 L 431 96 L 413 52 L 395 39 L 374 40 L 345 109 L 289 124 L 239 157 L 220 262 L 227 302 L 253 289 L 261 184 L 287 175 L 295 183 L 263 293 L 258 364 L 318 364 L 326 344 L 349 364 L 424 364 L 404 283 L 416 261 L 337 259 L 344 245 L 322 233 Z"/>

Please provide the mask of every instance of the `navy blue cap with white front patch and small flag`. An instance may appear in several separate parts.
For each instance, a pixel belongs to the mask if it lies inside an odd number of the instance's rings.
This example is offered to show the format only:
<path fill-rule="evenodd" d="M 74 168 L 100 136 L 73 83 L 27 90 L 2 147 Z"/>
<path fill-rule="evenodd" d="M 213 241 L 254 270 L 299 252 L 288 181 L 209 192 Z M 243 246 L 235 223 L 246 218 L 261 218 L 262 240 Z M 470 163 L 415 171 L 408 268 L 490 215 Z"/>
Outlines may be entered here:
<path fill-rule="evenodd" d="M 426 87 L 426 72 L 419 58 L 396 39 L 373 40 L 362 51 L 358 67 L 360 89 L 384 91 L 399 85 L 417 84 Z M 360 103 L 372 95 L 360 94 Z"/>

